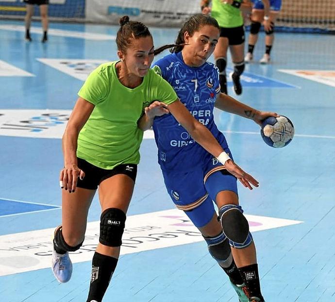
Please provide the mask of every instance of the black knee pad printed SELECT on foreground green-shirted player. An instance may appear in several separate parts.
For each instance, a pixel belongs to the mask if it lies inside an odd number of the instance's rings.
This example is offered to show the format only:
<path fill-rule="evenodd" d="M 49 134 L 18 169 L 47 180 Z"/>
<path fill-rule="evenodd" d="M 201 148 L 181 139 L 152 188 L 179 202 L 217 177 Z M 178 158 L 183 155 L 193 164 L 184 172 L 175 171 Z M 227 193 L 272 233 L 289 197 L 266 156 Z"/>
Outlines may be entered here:
<path fill-rule="evenodd" d="M 100 219 L 99 242 L 108 247 L 119 247 L 126 222 L 126 214 L 117 208 L 109 208 L 102 212 Z"/>

